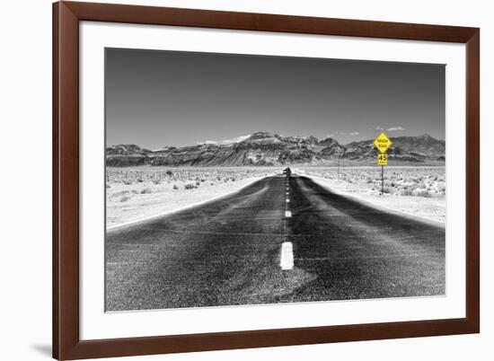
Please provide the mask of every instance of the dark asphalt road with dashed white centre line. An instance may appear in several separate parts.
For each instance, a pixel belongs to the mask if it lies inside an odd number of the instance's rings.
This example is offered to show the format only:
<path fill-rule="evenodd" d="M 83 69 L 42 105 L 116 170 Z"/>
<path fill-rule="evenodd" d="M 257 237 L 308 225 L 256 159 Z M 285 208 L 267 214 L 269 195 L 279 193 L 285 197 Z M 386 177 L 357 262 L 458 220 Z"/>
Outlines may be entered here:
<path fill-rule="evenodd" d="M 304 176 L 107 232 L 106 310 L 445 294 L 445 228 Z"/>

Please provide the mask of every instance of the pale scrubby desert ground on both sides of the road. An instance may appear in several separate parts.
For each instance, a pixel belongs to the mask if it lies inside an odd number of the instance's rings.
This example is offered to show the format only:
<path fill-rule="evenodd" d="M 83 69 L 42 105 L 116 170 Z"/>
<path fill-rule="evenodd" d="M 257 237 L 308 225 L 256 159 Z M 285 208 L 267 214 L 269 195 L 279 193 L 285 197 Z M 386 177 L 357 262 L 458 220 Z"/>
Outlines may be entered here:
<path fill-rule="evenodd" d="M 157 216 L 243 189 L 281 167 L 108 167 L 107 228 Z M 336 191 L 378 206 L 445 222 L 444 167 L 296 167 Z"/>

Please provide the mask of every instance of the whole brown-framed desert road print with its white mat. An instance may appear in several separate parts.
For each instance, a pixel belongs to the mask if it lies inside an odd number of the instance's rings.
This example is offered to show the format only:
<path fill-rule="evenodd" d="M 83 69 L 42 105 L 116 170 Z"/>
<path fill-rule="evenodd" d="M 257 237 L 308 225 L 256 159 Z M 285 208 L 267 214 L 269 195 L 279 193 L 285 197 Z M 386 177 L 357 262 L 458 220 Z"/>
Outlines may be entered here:
<path fill-rule="evenodd" d="M 479 29 L 53 9 L 55 358 L 479 332 Z"/>

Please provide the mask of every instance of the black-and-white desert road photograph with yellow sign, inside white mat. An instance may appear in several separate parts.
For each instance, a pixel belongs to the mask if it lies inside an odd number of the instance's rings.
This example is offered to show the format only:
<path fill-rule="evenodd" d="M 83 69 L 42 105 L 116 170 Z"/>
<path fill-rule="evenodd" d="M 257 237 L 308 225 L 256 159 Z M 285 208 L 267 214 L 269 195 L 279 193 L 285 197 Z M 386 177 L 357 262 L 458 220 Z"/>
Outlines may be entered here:
<path fill-rule="evenodd" d="M 446 295 L 444 64 L 104 52 L 105 312 Z"/>

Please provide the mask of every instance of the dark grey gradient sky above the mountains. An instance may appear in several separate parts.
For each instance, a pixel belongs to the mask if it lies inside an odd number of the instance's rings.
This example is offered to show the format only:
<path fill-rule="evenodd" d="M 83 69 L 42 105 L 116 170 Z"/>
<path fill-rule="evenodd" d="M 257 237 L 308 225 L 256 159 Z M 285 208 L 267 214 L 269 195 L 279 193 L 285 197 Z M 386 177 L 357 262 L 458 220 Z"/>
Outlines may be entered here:
<path fill-rule="evenodd" d="M 106 50 L 107 145 L 222 142 L 256 131 L 340 143 L 445 138 L 445 66 Z"/>

